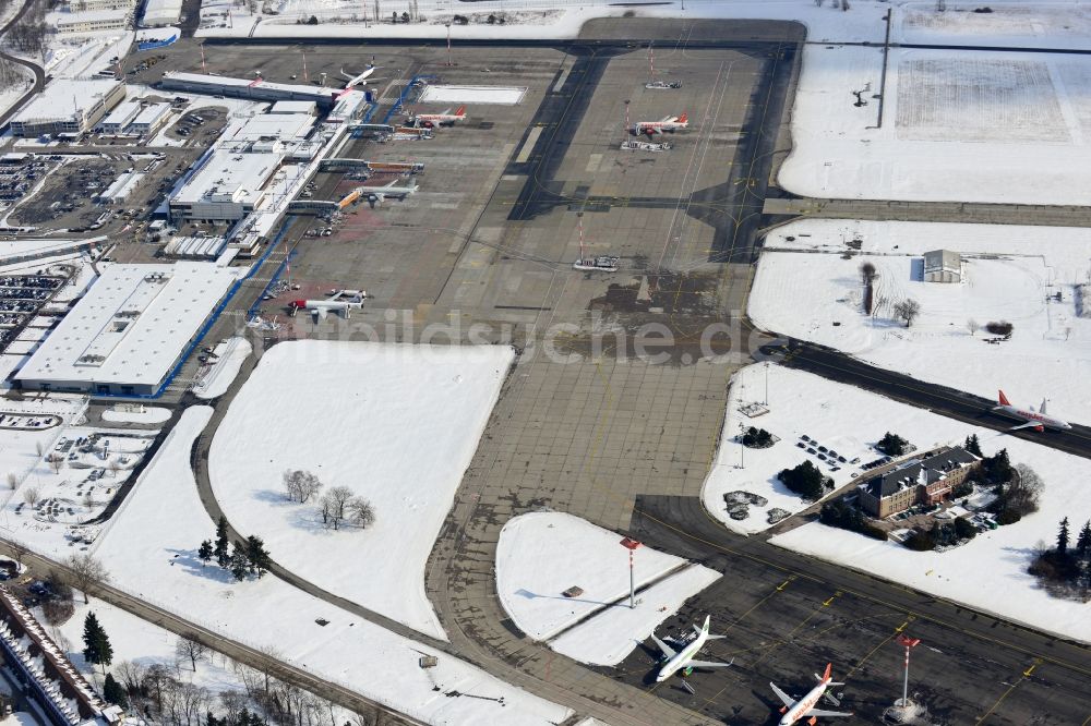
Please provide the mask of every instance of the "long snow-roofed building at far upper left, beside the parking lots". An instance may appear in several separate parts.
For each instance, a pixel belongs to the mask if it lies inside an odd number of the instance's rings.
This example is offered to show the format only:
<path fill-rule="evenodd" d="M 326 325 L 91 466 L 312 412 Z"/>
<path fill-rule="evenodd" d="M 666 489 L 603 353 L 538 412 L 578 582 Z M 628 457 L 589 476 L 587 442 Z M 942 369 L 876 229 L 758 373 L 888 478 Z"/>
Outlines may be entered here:
<path fill-rule="evenodd" d="M 11 133 L 24 138 L 83 133 L 124 97 L 124 84 L 113 78 L 56 78 L 12 118 Z"/>

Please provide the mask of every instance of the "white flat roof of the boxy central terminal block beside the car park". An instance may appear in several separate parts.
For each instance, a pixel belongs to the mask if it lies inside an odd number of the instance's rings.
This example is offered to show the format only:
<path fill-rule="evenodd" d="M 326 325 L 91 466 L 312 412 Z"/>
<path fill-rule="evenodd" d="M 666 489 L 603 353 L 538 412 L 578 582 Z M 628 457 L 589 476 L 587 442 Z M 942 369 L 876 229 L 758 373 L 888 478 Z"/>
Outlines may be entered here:
<path fill-rule="evenodd" d="M 284 154 L 244 154 L 216 149 L 171 198 L 175 204 L 201 202 L 245 204 L 261 196 L 261 190 L 276 172 Z"/>

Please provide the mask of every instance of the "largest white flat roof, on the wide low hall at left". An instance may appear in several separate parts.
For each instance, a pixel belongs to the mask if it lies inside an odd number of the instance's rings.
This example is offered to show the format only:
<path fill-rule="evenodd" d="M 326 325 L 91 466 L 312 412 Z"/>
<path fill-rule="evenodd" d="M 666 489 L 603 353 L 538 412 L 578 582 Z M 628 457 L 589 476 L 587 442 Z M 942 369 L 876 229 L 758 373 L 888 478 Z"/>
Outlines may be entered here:
<path fill-rule="evenodd" d="M 16 378 L 155 386 L 236 279 L 214 263 L 110 265 Z"/>

